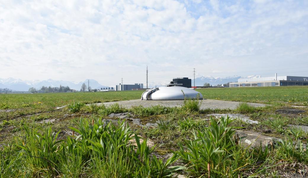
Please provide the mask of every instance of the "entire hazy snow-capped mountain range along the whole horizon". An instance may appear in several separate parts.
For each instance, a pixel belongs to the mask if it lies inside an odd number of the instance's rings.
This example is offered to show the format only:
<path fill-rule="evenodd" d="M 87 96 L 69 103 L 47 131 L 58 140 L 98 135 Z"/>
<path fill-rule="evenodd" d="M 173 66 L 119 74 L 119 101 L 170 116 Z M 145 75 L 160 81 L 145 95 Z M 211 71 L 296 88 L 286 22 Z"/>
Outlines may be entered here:
<path fill-rule="evenodd" d="M 230 76 L 230 77 L 212 77 L 212 76 L 202 76 L 202 77 L 197 77 L 195 79 L 195 85 L 196 86 L 203 86 L 204 83 L 209 83 L 211 85 L 217 85 L 217 84 L 225 84 L 228 82 L 237 82 L 238 79 L 241 78 L 260 78 L 261 76 L 259 75 L 253 75 L 253 76 L 248 76 L 248 77 L 241 77 L 241 76 Z M 89 79 L 90 81 L 90 86 L 92 89 L 100 89 L 100 88 L 105 88 L 108 86 L 101 85 L 98 83 L 98 81 Z M 34 88 L 41 88 L 42 86 L 51 86 L 51 87 L 59 87 L 60 85 L 62 86 L 69 86 L 71 89 L 75 90 L 80 90 L 81 85 L 85 83 L 87 85 L 88 79 L 85 81 L 81 82 L 72 82 L 72 81 L 57 81 L 57 80 L 21 80 L 21 79 L 14 79 L 14 78 L 7 78 L 7 79 L 2 79 L 0 78 L 0 89 L 4 88 L 9 88 L 13 90 L 18 90 L 18 91 L 28 91 L 29 88 L 34 87 Z M 162 82 L 149 82 L 149 88 L 155 87 L 155 86 L 161 86 L 163 83 L 168 83 L 167 81 L 162 81 Z M 194 80 L 192 80 L 192 86 L 194 85 Z M 144 87 L 146 84 L 144 84 Z"/>

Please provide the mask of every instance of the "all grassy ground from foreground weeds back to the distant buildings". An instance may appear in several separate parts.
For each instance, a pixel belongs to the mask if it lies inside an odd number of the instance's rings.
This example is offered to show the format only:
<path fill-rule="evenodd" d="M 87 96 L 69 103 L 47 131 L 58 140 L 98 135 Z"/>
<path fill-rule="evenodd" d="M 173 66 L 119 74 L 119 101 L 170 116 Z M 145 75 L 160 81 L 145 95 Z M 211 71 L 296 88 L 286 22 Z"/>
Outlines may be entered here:
<path fill-rule="evenodd" d="M 0 94 L 0 177 L 308 176 L 308 133 L 287 126 L 308 126 L 308 108 L 293 106 L 308 105 L 308 86 L 197 91 L 205 99 L 242 103 L 235 110 L 200 110 L 198 100 L 176 108 L 126 109 L 85 104 L 140 99 L 144 91 Z M 246 102 L 271 105 L 254 108 Z M 277 109 L 305 112 L 279 114 Z M 108 117 L 124 112 L 132 118 Z M 259 123 L 207 115 L 228 113 Z M 249 148 L 239 144 L 235 130 L 277 140 Z"/>

